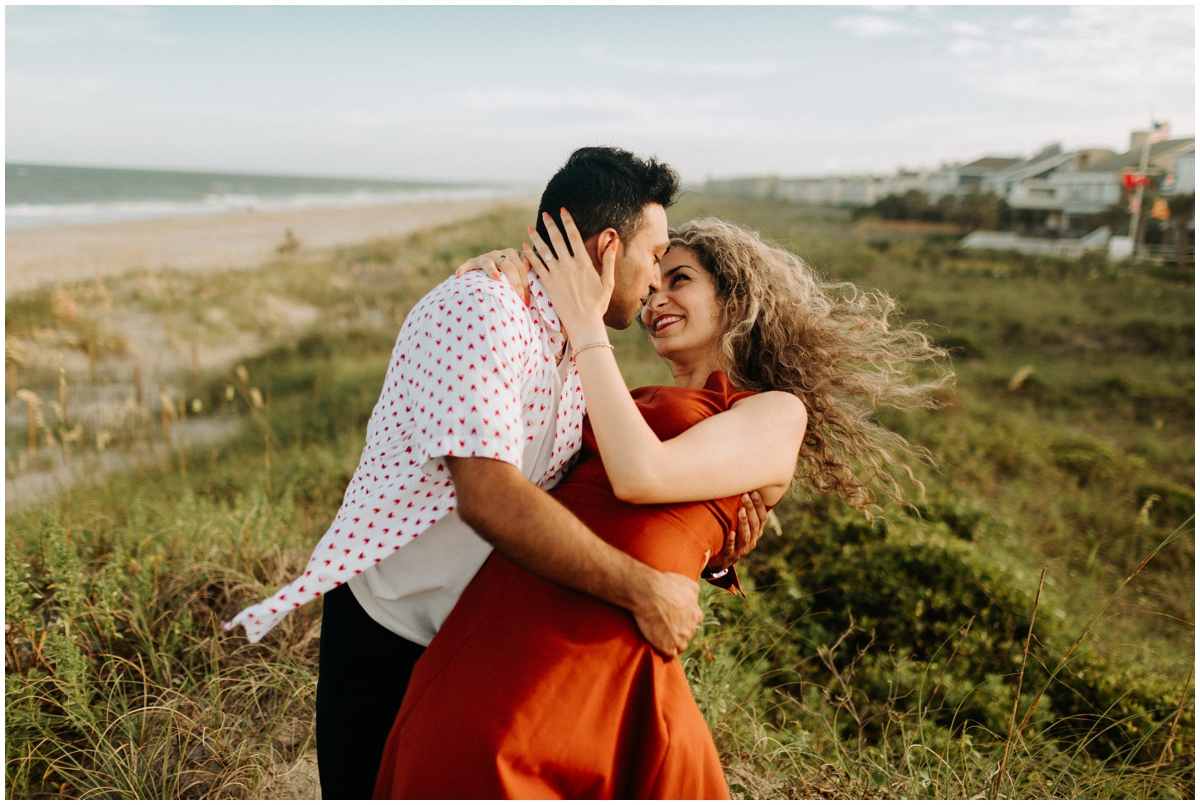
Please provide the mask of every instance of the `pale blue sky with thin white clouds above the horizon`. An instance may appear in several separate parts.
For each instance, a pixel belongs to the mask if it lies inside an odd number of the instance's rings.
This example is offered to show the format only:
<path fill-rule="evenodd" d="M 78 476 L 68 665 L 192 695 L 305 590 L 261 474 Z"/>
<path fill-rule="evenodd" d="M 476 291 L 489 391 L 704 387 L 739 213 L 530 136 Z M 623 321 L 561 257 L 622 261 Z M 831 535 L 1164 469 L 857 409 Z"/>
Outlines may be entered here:
<path fill-rule="evenodd" d="M 703 181 L 1195 132 L 1194 6 L 8 6 L 5 46 L 7 162 Z"/>

